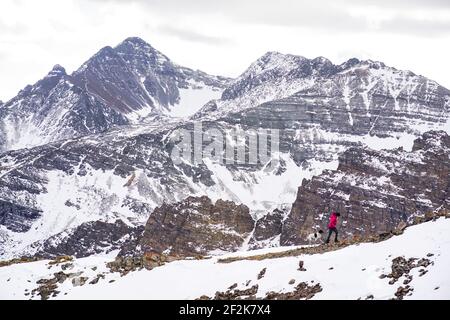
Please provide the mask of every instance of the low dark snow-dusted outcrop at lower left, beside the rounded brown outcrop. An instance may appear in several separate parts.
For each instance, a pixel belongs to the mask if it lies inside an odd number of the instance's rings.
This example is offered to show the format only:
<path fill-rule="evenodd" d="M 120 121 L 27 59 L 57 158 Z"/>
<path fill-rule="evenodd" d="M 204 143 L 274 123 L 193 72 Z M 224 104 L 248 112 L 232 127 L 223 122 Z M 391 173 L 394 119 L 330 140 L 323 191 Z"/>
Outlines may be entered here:
<path fill-rule="evenodd" d="M 114 223 L 93 221 L 83 223 L 75 230 L 67 230 L 36 243 L 39 247 L 36 256 L 54 258 L 70 255 L 83 258 L 92 254 L 107 253 L 136 244 L 142 237 L 144 227 L 130 227 L 123 221 Z"/>

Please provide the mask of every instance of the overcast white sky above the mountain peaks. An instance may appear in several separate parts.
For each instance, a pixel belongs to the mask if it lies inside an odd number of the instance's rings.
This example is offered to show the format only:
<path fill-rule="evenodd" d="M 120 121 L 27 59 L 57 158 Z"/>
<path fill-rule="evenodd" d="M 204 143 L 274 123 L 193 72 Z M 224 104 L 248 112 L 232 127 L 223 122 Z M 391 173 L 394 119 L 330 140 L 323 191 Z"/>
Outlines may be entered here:
<path fill-rule="evenodd" d="M 0 100 L 129 36 L 211 74 L 280 51 L 380 60 L 450 88 L 449 0 L 1 0 Z"/>

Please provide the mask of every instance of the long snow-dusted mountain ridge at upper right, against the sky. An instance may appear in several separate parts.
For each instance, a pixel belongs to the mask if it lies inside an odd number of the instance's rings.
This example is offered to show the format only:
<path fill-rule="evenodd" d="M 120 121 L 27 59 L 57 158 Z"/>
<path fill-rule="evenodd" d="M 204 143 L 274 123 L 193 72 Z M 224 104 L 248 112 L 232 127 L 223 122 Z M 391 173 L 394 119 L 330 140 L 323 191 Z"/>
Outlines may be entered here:
<path fill-rule="evenodd" d="M 317 107 L 331 104 L 345 110 L 342 120 L 350 127 L 376 121 L 379 110 L 445 121 L 441 113 L 448 114 L 450 103 L 450 91 L 435 81 L 382 62 L 353 58 L 334 65 L 323 57 L 307 59 L 268 52 L 233 80 L 221 99 L 208 103 L 194 118 L 217 119 L 291 96 Z M 329 118 L 327 111 L 310 109 L 311 117 Z"/>

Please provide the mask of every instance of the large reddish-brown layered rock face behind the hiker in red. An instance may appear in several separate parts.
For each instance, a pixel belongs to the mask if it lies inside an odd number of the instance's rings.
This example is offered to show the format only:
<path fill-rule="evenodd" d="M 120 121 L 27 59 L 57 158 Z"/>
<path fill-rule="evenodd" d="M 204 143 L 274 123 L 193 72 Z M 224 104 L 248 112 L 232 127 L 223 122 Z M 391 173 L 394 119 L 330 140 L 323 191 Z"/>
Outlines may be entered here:
<path fill-rule="evenodd" d="M 285 221 L 281 244 L 303 244 L 315 227 L 341 213 L 342 236 L 388 232 L 402 222 L 450 208 L 450 137 L 428 132 L 412 152 L 350 148 L 336 171 L 304 181 Z"/>

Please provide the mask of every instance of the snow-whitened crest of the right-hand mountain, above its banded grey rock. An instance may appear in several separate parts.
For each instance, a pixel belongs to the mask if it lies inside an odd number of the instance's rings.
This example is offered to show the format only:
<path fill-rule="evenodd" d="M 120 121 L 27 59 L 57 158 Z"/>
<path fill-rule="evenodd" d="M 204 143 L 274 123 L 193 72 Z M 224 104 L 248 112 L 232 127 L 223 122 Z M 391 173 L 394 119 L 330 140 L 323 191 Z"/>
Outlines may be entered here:
<path fill-rule="evenodd" d="M 214 119 L 301 92 L 303 96 L 341 97 L 349 110 L 348 121 L 353 125 L 352 99 L 362 99 L 369 113 L 372 96 L 385 95 L 393 100 L 395 110 L 401 110 L 400 100 L 406 99 L 408 106 L 413 105 L 419 91 L 426 92 L 426 100 L 434 99 L 436 94 L 450 97 L 449 91 L 435 81 L 378 61 L 353 58 L 334 65 L 323 57 L 307 59 L 268 52 L 230 82 L 221 99 L 205 105 L 194 117 Z"/>

